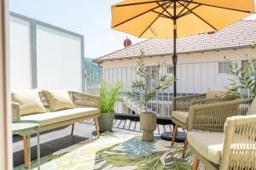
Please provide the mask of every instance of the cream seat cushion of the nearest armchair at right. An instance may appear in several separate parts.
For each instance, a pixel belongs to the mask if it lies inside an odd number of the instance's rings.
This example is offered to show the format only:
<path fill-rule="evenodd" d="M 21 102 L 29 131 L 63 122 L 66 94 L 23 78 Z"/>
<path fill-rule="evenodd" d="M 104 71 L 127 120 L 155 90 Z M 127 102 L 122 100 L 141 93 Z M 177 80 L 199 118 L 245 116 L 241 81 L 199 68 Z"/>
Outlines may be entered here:
<path fill-rule="evenodd" d="M 219 165 L 223 150 L 224 133 L 190 131 L 187 136 L 189 144 L 201 156 Z"/>

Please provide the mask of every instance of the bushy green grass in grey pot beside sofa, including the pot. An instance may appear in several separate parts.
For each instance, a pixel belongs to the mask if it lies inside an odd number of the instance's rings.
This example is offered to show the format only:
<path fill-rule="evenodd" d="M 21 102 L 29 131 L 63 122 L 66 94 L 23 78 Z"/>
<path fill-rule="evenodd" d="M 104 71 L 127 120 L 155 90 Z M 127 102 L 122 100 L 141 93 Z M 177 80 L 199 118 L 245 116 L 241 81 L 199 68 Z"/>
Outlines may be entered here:
<path fill-rule="evenodd" d="M 98 118 L 98 124 L 101 132 L 111 131 L 113 127 L 114 106 L 119 99 L 119 90 L 121 84 L 111 84 L 102 81 L 99 90 L 100 96 L 100 117 Z"/>

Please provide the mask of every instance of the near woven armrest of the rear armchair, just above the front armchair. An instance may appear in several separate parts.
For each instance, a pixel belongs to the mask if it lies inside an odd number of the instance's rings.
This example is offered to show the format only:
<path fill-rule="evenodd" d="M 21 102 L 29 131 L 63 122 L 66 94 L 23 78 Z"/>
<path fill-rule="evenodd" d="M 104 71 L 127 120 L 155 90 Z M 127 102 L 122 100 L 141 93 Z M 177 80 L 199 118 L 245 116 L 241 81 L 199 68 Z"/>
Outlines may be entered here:
<path fill-rule="evenodd" d="M 237 99 L 236 96 L 230 96 L 226 98 L 193 99 L 190 101 L 189 105 L 207 105 L 207 104 L 214 104 L 218 102 L 231 101 L 235 99 Z"/>

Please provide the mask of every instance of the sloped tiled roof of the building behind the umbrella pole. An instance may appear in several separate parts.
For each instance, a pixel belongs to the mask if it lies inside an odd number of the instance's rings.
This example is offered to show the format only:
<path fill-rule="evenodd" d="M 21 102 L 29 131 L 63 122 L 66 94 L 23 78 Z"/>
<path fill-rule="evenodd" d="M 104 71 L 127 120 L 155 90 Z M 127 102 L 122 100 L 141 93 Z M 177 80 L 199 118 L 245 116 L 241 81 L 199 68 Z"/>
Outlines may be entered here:
<path fill-rule="evenodd" d="M 199 34 L 177 38 L 177 54 L 222 50 L 228 48 L 246 48 L 256 42 L 256 20 L 240 20 L 213 34 Z M 171 38 L 152 38 L 138 42 L 111 54 L 94 59 L 96 63 L 106 60 L 137 58 L 143 49 L 145 56 L 172 54 Z"/>

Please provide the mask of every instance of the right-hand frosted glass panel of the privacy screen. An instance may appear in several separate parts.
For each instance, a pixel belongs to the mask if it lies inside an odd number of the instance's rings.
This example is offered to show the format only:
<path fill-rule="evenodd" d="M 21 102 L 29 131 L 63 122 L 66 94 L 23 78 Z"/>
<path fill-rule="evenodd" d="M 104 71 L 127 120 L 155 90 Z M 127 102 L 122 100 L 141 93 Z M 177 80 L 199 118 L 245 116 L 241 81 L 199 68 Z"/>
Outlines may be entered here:
<path fill-rule="evenodd" d="M 80 37 L 37 26 L 37 59 L 38 88 L 82 90 Z"/>

